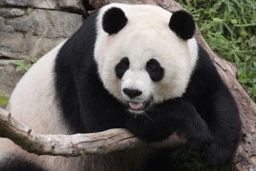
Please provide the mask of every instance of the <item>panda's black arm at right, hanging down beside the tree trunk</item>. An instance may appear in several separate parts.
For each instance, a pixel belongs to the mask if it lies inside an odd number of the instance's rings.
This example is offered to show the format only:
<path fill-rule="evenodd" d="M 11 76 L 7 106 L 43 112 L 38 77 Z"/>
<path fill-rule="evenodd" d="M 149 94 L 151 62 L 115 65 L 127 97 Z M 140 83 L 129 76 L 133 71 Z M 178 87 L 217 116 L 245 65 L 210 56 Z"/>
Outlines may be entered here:
<path fill-rule="evenodd" d="M 201 46 L 183 98 L 195 106 L 211 131 L 213 142 L 205 150 L 205 161 L 210 166 L 224 164 L 235 151 L 241 120 L 234 98 Z"/>

